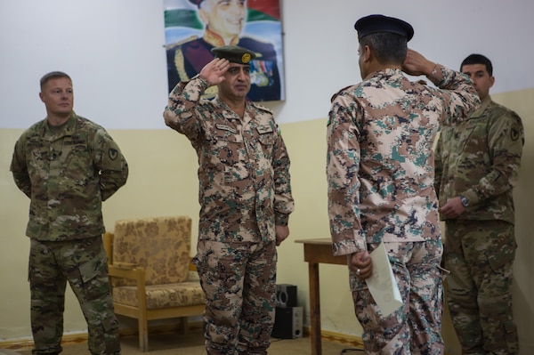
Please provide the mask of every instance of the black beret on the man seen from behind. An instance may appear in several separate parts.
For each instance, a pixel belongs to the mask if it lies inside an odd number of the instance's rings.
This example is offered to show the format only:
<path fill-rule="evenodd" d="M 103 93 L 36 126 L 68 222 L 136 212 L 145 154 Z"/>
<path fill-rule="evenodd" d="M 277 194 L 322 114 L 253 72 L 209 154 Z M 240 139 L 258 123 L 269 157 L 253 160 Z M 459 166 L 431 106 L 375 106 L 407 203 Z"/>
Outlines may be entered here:
<path fill-rule="evenodd" d="M 354 28 L 358 31 L 358 40 L 378 32 L 390 32 L 405 36 L 407 42 L 414 36 L 414 28 L 403 20 L 384 15 L 368 15 L 357 20 Z"/>

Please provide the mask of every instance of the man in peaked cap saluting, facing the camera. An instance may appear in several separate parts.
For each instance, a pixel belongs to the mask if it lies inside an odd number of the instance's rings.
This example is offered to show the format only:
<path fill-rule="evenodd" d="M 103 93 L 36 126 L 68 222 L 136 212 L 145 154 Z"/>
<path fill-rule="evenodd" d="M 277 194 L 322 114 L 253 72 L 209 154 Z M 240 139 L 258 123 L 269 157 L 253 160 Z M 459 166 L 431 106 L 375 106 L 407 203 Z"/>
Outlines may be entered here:
<path fill-rule="evenodd" d="M 174 87 L 166 125 L 198 154 L 194 262 L 206 294 L 208 354 L 266 354 L 276 306 L 278 246 L 293 211 L 289 157 L 272 112 L 246 101 L 255 53 L 215 47 L 215 59 Z M 218 86 L 214 101 L 201 96 Z"/>

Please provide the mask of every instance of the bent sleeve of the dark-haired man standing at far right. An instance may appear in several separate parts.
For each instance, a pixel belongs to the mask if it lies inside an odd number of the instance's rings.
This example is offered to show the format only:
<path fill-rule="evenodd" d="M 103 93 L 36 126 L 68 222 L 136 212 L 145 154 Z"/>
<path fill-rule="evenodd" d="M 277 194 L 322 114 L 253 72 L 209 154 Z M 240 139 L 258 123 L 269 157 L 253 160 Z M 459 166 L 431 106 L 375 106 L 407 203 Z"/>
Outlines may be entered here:
<path fill-rule="evenodd" d="M 519 178 L 524 142 L 521 118 L 513 111 L 503 110 L 491 119 L 488 144 L 492 164 L 489 172 L 463 193 L 470 207 L 513 189 Z"/>

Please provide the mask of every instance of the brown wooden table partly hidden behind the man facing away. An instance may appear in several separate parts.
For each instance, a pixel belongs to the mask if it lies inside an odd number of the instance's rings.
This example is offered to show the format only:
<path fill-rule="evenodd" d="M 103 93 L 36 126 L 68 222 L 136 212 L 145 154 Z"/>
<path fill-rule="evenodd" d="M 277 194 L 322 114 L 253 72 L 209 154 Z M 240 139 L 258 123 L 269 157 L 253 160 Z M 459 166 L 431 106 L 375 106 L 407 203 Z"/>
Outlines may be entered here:
<path fill-rule="evenodd" d="M 308 277 L 310 278 L 310 338 L 312 339 L 312 355 L 321 355 L 319 264 L 322 262 L 346 265 L 347 257 L 346 255 L 332 255 L 332 239 L 330 238 L 300 239 L 295 240 L 295 243 L 303 243 L 304 262 L 308 262 Z"/>

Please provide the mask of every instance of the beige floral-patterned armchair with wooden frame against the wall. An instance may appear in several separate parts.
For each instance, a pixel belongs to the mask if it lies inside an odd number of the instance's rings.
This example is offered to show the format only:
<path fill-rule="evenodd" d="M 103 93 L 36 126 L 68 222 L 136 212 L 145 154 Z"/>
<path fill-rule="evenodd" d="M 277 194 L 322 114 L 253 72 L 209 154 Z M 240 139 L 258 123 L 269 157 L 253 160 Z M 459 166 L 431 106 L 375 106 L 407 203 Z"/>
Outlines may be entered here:
<path fill-rule="evenodd" d="M 187 317 L 204 312 L 202 288 L 188 279 L 190 217 L 117 221 L 103 238 L 115 312 L 138 319 L 141 351 L 149 350 L 149 320 L 181 318 L 185 330 Z"/>

